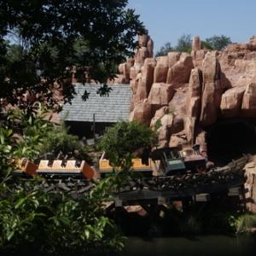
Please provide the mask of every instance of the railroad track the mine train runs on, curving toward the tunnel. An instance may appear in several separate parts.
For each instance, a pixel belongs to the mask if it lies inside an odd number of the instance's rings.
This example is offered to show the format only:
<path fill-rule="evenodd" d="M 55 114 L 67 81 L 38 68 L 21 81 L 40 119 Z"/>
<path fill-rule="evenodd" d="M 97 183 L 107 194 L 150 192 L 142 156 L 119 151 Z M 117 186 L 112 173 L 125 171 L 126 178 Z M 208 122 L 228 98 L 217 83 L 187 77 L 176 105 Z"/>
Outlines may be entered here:
<path fill-rule="evenodd" d="M 245 154 L 237 160 L 232 160 L 227 166 L 212 169 L 210 172 L 186 173 L 182 176 L 132 178 L 118 191 L 110 192 L 117 195 L 148 193 L 148 191 L 167 193 L 168 191 L 189 191 L 192 189 L 197 193 L 196 191 L 226 189 L 245 182 L 243 168 L 251 160 L 253 160 L 253 156 Z M 43 189 L 47 193 L 65 191 L 73 196 L 79 196 L 89 192 L 97 181 L 97 179 L 87 180 L 83 178 L 56 179 L 52 176 L 44 178 L 44 182 L 38 185 L 38 189 Z"/>

